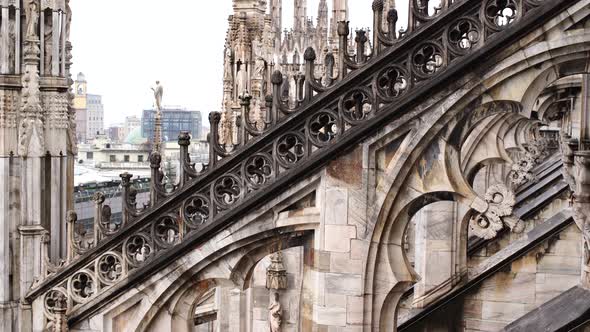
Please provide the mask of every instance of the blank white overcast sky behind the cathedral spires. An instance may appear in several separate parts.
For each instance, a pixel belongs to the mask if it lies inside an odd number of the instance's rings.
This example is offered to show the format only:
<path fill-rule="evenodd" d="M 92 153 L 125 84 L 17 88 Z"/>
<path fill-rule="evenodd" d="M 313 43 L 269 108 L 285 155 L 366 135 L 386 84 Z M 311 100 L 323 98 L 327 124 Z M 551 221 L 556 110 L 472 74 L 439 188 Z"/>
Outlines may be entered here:
<path fill-rule="evenodd" d="M 307 2 L 307 15 L 316 17 L 319 0 Z M 349 0 L 351 27 L 372 25 L 371 3 Z M 103 96 L 105 126 L 151 107 L 157 79 L 165 105 L 202 111 L 205 119 L 219 110 L 231 0 L 73 0 L 71 7 L 72 74 L 83 72 L 88 92 Z M 283 7 L 290 27 L 293 0 Z"/>

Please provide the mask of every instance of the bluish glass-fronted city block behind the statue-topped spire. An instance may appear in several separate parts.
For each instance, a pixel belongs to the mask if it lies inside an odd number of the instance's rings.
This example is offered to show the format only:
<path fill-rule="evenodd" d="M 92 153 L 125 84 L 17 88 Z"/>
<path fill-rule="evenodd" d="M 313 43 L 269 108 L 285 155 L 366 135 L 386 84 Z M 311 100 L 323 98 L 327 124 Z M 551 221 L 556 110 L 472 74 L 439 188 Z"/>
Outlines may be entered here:
<path fill-rule="evenodd" d="M 152 141 L 154 138 L 155 110 L 144 110 L 141 118 L 142 136 Z M 201 112 L 181 108 L 162 110 L 162 140 L 176 141 L 181 131 L 188 131 L 194 138 L 201 137 Z"/>

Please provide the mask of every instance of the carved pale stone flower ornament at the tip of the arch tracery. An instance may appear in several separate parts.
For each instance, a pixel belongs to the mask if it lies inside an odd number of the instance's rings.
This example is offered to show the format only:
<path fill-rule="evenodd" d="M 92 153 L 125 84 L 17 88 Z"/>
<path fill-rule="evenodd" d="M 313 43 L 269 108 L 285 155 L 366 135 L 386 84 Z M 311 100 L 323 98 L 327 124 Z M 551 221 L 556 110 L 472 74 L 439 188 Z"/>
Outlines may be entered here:
<path fill-rule="evenodd" d="M 512 214 L 516 199 L 514 193 L 503 184 L 488 188 L 484 200 L 477 198 L 471 207 L 476 213 L 469 220 L 469 228 L 482 239 L 493 239 L 504 226 L 514 233 L 524 231 L 524 222 Z"/>

